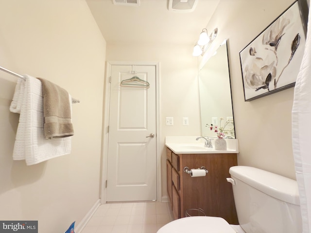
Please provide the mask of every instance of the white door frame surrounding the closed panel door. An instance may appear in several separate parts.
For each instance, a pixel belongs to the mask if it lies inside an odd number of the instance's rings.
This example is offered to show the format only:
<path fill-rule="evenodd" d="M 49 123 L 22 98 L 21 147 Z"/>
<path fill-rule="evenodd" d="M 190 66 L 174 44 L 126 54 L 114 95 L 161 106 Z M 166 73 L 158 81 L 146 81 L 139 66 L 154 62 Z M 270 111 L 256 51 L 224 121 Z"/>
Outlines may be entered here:
<path fill-rule="evenodd" d="M 107 160 L 108 160 L 108 125 L 110 111 L 110 73 L 111 66 L 155 66 L 155 105 L 156 105 L 156 200 L 162 201 L 161 187 L 161 152 L 160 152 L 160 79 L 159 79 L 159 62 L 125 62 L 125 61 L 107 61 L 106 75 L 104 82 L 104 119 L 103 119 L 103 134 L 102 134 L 102 161 L 101 161 L 101 180 L 100 180 L 100 199 L 101 204 L 106 203 L 106 180 L 107 180 Z"/>

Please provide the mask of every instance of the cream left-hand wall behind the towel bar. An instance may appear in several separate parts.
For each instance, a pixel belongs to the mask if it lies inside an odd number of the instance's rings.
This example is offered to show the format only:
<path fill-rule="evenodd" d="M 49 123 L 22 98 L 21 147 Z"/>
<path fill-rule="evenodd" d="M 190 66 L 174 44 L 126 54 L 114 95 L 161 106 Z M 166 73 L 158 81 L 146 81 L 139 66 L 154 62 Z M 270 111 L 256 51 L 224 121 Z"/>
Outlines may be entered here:
<path fill-rule="evenodd" d="M 85 0 L 0 0 L 0 66 L 57 83 L 73 105 L 72 153 L 26 166 L 13 161 L 17 78 L 0 71 L 0 219 L 38 220 L 65 232 L 99 199 L 105 40 Z"/>

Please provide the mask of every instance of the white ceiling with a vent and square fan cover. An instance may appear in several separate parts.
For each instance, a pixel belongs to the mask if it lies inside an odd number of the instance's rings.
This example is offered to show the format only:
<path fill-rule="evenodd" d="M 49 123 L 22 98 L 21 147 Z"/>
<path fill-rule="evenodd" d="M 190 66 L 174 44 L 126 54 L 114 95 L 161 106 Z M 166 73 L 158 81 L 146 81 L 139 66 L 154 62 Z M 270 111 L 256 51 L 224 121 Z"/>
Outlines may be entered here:
<path fill-rule="evenodd" d="M 188 13 L 169 11 L 168 1 L 140 0 L 140 6 L 124 6 L 112 0 L 86 0 L 107 43 L 193 45 L 220 0 L 199 0 Z"/>

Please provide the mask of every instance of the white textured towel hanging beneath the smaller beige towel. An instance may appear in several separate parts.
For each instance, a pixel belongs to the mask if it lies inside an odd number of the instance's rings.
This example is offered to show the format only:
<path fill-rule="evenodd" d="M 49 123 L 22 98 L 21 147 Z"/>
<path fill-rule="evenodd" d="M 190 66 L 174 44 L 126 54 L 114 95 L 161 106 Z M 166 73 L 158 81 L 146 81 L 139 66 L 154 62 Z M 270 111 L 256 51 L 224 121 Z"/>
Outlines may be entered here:
<path fill-rule="evenodd" d="M 26 160 L 34 165 L 71 152 L 71 137 L 46 140 L 43 129 L 42 84 L 24 75 L 17 80 L 10 111 L 20 113 L 13 160 Z"/>

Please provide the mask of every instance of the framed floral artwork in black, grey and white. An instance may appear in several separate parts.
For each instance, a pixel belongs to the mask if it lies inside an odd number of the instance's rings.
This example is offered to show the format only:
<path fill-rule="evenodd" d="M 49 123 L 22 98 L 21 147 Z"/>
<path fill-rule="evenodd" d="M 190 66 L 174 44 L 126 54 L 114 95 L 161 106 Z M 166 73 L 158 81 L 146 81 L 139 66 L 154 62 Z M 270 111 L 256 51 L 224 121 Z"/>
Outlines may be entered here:
<path fill-rule="evenodd" d="M 308 5 L 296 0 L 241 52 L 245 101 L 293 87 L 307 34 Z"/>

